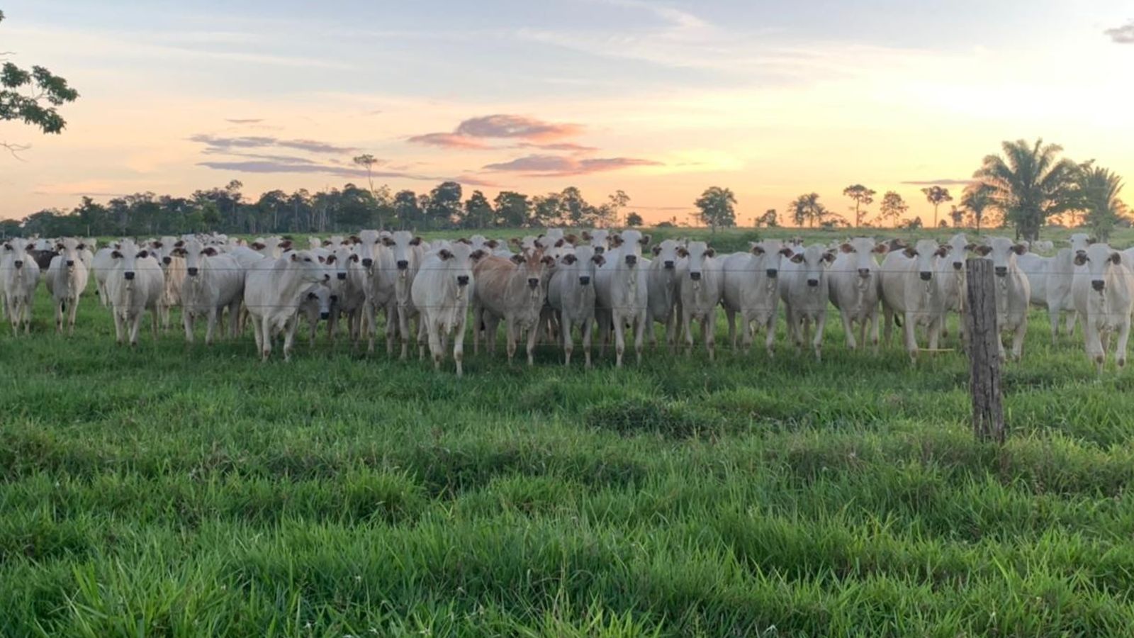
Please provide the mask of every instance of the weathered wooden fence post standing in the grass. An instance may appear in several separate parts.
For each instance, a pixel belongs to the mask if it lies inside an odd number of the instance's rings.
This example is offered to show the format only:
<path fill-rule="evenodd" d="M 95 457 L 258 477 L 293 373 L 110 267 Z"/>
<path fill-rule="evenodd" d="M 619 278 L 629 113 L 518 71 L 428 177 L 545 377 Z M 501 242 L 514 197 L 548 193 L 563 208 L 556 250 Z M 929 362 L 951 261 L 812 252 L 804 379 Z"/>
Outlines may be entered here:
<path fill-rule="evenodd" d="M 996 327 L 996 280 L 992 260 L 970 259 L 968 307 L 968 389 L 973 395 L 973 434 L 978 440 L 996 439 L 1002 444 L 1004 404 L 1000 394 L 1000 333 Z"/>

